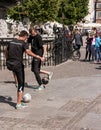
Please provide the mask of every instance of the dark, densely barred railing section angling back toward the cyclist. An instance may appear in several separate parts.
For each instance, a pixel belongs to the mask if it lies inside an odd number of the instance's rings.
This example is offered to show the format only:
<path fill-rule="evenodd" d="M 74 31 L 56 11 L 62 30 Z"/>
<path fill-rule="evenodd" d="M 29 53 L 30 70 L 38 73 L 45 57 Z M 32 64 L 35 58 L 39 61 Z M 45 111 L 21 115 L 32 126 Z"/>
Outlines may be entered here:
<path fill-rule="evenodd" d="M 71 50 L 64 29 L 59 30 L 59 32 L 55 34 L 54 50 L 55 65 L 61 64 L 70 58 Z"/>

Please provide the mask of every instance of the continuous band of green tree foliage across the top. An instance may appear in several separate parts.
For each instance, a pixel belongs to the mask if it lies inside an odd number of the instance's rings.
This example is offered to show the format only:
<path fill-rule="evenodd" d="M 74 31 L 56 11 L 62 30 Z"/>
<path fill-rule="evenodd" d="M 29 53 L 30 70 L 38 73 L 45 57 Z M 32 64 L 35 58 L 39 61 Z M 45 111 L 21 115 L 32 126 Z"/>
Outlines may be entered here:
<path fill-rule="evenodd" d="M 28 17 L 32 23 L 57 20 L 65 24 L 81 21 L 88 14 L 89 0 L 23 0 L 8 10 L 14 20 Z"/>

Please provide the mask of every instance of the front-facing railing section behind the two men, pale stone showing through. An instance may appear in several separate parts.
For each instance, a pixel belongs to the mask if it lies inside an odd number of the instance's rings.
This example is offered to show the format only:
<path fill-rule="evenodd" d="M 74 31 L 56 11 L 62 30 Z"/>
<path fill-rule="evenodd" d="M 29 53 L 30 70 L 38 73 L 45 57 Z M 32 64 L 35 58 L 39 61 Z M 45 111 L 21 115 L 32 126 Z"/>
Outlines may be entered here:
<path fill-rule="evenodd" d="M 5 52 L 7 45 L 13 38 L 1 38 L 0 39 L 0 69 L 6 69 L 6 57 Z M 55 65 L 51 50 L 53 48 L 53 40 L 43 40 L 44 44 L 46 44 L 47 47 L 47 53 L 46 53 L 46 61 L 42 63 L 42 66 L 52 66 Z M 29 44 L 29 49 L 31 49 L 31 45 Z M 32 61 L 32 57 L 28 56 L 26 53 L 23 55 L 23 63 L 25 67 L 30 67 Z"/>

